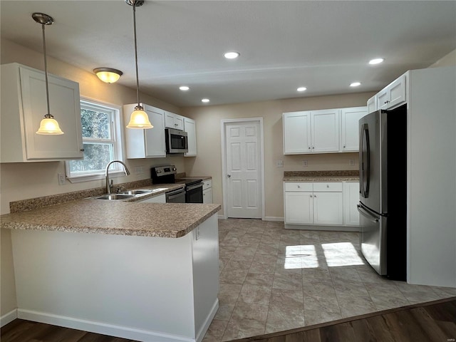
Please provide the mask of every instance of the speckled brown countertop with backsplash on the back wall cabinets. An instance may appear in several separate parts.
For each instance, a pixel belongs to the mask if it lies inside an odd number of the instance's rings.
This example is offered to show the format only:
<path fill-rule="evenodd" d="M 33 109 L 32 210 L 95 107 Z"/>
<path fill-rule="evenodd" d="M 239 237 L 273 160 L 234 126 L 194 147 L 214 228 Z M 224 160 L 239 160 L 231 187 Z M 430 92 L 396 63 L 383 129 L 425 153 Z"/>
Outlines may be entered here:
<path fill-rule="evenodd" d="M 348 182 L 359 181 L 358 170 L 285 171 L 284 182 Z"/>

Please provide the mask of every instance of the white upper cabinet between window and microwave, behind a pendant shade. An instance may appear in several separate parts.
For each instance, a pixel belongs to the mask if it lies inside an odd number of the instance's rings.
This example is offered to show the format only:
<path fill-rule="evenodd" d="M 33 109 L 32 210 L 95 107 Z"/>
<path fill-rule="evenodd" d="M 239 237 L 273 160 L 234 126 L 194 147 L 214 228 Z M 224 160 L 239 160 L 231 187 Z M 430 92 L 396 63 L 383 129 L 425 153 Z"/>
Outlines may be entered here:
<path fill-rule="evenodd" d="M 124 105 L 123 115 L 125 123 L 130 120 L 130 115 L 137 103 Z M 165 110 L 142 104 L 149 116 L 153 128 L 138 130 L 125 128 L 125 147 L 127 158 L 158 158 L 166 157 L 165 146 Z"/>

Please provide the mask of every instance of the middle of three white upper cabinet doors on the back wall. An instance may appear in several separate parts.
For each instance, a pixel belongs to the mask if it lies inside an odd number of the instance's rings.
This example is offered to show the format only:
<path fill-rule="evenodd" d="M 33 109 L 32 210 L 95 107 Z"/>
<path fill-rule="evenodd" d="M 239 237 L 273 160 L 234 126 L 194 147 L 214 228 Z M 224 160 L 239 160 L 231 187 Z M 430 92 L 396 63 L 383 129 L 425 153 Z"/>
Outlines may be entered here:
<path fill-rule="evenodd" d="M 312 152 L 339 152 L 339 110 L 311 112 Z"/>

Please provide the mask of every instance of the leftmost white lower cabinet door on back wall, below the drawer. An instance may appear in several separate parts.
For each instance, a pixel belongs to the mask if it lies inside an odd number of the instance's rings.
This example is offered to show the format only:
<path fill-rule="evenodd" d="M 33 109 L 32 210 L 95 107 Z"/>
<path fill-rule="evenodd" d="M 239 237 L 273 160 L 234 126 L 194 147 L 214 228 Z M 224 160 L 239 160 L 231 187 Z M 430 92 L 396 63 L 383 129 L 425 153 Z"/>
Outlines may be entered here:
<path fill-rule="evenodd" d="M 314 223 L 312 192 L 285 192 L 285 223 Z"/>

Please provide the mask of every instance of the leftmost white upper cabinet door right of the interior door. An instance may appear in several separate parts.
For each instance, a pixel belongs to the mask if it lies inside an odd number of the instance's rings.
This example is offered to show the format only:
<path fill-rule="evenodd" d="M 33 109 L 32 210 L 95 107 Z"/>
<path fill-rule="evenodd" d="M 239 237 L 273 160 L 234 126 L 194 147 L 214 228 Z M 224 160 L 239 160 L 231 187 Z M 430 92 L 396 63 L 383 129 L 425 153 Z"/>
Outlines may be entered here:
<path fill-rule="evenodd" d="M 311 152 L 310 112 L 284 113 L 284 155 Z"/>

